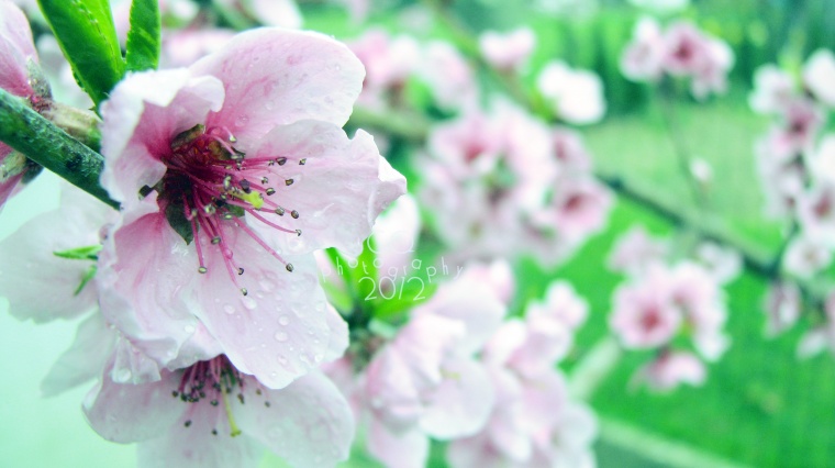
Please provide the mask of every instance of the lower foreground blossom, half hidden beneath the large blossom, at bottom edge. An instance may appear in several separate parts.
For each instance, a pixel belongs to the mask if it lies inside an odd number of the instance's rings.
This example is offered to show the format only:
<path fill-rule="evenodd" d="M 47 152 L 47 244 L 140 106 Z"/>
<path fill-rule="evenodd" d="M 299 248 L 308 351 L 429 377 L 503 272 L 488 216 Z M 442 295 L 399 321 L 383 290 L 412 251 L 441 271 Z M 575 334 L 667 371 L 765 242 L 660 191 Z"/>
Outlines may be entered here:
<path fill-rule="evenodd" d="M 137 442 L 140 466 L 256 467 L 266 447 L 292 466 L 327 467 L 347 458 L 354 435 L 347 402 L 320 372 L 272 390 L 223 355 L 155 382 L 105 378 L 84 410 L 102 437 Z"/>

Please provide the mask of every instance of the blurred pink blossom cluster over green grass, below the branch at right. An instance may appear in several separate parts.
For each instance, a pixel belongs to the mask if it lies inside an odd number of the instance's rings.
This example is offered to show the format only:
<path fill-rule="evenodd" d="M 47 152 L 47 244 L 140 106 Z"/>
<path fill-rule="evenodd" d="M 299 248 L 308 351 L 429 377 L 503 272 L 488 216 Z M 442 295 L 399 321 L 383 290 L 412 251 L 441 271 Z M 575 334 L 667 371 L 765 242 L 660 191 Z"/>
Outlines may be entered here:
<path fill-rule="evenodd" d="M 654 238 L 643 227 L 621 237 L 610 267 L 627 281 L 614 291 L 610 326 L 624 348 L 655 352 L 635 375 L 636 382 L 661 391 L 704 382 L 706 369 L 699 357 L 714 361 L 730 345 L 722 287 L 739 274 L 741 264 L 733 250 L 711 243 L 673 257 L 669 239 Z"/>

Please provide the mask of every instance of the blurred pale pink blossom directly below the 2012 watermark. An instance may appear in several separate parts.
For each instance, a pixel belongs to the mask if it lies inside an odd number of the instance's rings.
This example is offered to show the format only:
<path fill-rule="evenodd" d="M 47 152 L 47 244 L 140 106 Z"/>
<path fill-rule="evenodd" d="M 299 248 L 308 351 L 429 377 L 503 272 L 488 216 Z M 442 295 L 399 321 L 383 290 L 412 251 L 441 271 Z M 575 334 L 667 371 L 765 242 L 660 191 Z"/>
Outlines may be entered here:
<path fill-rule="evenodd" d="M 430 436 L 459 438 L 486 424 L 494 391 L 474 356 L 504 305 L 481 278 L 466 270 L 441 286 L 357 378 L 350 393 L 368 425 L 368 449 L 387 466 L 422 467 Z"/>

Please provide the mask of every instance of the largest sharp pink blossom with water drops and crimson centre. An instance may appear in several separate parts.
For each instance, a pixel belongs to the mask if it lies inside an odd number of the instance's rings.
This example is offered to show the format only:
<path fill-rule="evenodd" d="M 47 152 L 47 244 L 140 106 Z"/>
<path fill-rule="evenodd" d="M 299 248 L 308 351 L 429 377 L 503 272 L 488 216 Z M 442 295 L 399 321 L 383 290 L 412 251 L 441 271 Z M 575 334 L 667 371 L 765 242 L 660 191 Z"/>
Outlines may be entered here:
<path fill-rule="evenodd" d="M 331 38 L 261 29 L 122 81 L 102 105 L 101 181 L 123 209 L 97 275 L 105 319 L 163 367 L 218 346 L 270 388 L 316 367 L 344 331 L 312 252 L 358 254 L 404 192 L 371 137 L 341 129 L 361 78 Z M 212 339 L 185 347 L 201 326 Z"/>

